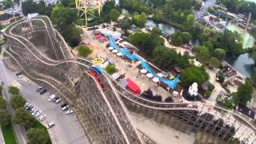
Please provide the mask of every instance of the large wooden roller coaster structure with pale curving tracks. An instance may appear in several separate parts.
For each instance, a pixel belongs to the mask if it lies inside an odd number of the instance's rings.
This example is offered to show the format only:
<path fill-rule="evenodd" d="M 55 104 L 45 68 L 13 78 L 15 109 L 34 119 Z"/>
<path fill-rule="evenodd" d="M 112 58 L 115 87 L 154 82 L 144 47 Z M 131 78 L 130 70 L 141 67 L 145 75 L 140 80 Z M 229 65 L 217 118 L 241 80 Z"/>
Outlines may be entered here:
<path fill-rule="evenodd" d="M 192 132 L 205 130 L 224 141 L 255 141 L 255 127 L 238 114 L 200 102 L 153 102 L 123 89 L 103 72 L 102 90 L 88 73 L 91 62 L 72 58 L 50 19 L 38 16 L 14 22 L 6 31 L 6 66 L 61 95 L 74 106 L 93 143 L 154 143 L 134 128 L 128 110 Z M 121 96 L 121 97 L 120 97 Z"/>

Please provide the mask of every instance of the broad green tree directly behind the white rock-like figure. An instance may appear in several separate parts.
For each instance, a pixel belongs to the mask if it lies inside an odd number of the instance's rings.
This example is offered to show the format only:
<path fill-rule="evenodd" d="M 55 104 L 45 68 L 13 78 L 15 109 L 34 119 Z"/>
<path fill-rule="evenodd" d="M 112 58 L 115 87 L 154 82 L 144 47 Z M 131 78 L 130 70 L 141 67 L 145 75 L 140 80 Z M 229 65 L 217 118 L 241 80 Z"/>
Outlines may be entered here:
<path fill-rule="evenodd" d="M 209 80 L 209 74 L 207 74 L 203 66 L 190 66 L 182 70 L 180 80 L 183 86 L 190 86 L 194 82 L 197 82 L 198 86 L 201 86 L 203 82 Z"/>

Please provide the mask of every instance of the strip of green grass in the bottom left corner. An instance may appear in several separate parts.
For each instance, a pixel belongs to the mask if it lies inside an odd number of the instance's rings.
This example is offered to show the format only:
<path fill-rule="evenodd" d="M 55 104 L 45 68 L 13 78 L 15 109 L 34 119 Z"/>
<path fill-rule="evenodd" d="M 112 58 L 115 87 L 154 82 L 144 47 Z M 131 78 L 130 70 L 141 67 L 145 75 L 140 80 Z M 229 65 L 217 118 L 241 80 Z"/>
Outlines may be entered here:
<path fill-rule="evenodd" d="M 2 135 L 3 135 L 3 138 L 5 139 L 6 144 L 17 144 L 14 136 L 13 127 L 10 125 L 10 126 L 1 127 L 1 128 L 2 128 Z"/>

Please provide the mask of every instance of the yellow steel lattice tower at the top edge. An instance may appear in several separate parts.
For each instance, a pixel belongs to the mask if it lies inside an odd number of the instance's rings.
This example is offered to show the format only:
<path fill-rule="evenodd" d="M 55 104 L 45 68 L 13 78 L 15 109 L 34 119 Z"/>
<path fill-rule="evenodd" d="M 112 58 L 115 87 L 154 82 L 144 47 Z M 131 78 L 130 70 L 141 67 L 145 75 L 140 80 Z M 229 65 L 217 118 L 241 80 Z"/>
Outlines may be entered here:
<path fill-rule="evenodd" d="M 78 15 L 81 18 L 85 18 L 85 22 L 87 26 L 88 16 L 96 17 L 95 11 L 98 12 L 98 15 L 101 14 L 101 0 L 75 0 L 75 6 L 78 10 Z"/>

